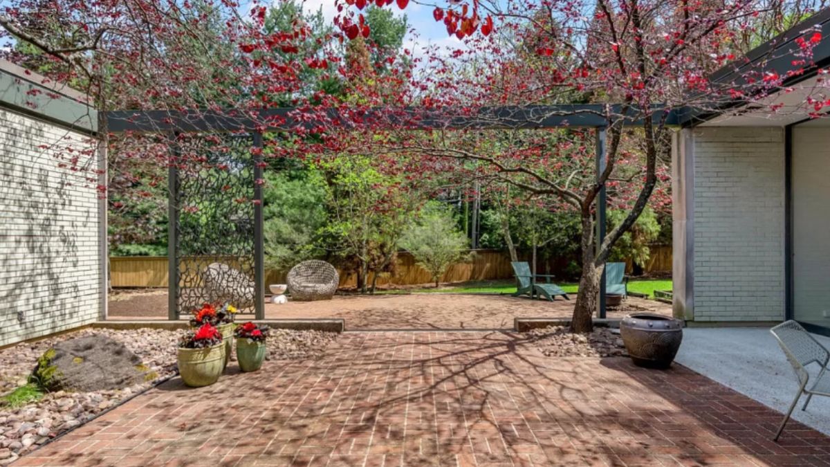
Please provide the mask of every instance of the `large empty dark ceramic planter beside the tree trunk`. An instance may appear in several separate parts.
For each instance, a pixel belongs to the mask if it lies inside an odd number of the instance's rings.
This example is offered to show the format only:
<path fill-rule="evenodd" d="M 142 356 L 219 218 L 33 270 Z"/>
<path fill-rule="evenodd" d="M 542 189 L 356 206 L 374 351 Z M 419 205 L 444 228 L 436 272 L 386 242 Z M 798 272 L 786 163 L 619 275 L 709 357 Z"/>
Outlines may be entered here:
<path fill-rule="evenodd" d="M 620 335 L 635 365 L 665 369 L 680 348 L 683 322 L 652 313 L 634 313 L 620 322 Z"/>

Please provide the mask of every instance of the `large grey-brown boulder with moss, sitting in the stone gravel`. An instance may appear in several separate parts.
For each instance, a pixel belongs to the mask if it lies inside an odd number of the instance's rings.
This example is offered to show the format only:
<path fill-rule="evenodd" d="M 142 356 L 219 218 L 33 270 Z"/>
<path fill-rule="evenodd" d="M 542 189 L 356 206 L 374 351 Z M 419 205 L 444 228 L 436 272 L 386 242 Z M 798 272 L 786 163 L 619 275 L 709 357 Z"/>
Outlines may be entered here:
<path fill-rule="evenodd" d="M 56 344 L 37 359 L 29 381 L 46 391 L 106 391 L 149 381 L 154 375 L 121 342 L 102 334 Z"/>

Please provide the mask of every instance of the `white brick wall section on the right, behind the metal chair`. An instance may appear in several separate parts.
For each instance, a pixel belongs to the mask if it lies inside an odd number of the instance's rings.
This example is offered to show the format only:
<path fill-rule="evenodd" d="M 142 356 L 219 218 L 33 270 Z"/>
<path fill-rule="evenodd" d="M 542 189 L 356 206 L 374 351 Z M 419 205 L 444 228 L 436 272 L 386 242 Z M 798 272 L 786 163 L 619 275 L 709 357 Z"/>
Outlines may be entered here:
<path fill-rule="evenodd" d="M 784 130 L 694 131 L 694 319 L 784 319 Z"/>

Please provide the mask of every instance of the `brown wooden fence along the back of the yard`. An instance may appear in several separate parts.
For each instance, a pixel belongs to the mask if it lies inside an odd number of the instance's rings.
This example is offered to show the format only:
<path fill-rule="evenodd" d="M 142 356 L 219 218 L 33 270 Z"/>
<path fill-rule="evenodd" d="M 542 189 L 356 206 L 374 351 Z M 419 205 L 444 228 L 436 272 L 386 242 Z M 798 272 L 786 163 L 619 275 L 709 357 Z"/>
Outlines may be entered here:
<path fill-rule="evenodd" d="M 647 273 L 671 273 L 671 245 L 654 245 L 651 247 L 651 259 L 645 268 Z M 540 270 L 541 267 L 540 267 Z M 631 271 L 631 261 L 627 262 Z M 354 287 L 357 278 L 354 273 L 340 273 L 340 287 Z M 286 271 L 266 271 L 266 285 L 285 283 Z M 510 267 L 510 255 L 499 250 L 476 250 L 470 262 L 452 265 L 442 283 L 464 281 L 483 281 L 513 278 Z M 369 283 L 372 276 L 369 275 Z M 398 268 L 393 276 L 382 274 L 378 285 L 393 283 L 396 285 L 414 285 L 430 283 L 429 273 L 415 263 L 413 255 L 398 253 Z M 110 283 L 112 287 L 167 287 L 168 268 L 166 256 L 126 256 L 110 258 Z"/>

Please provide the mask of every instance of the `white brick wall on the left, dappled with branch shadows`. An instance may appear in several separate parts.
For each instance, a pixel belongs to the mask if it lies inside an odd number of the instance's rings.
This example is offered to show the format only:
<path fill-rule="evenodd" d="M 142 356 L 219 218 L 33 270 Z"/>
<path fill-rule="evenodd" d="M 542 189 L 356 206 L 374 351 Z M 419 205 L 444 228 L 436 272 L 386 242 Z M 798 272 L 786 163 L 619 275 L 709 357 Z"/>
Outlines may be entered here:
<path fill-rule="evenodd" d="M 55 158 L 91 144 L 0 110 L 0 346 L 99 317 L 98 197 L 85 179 L 95 173 L 60 168 Z M 90 155 L 80 157 L 97 168 Z"/>

